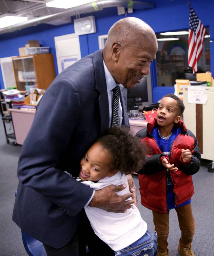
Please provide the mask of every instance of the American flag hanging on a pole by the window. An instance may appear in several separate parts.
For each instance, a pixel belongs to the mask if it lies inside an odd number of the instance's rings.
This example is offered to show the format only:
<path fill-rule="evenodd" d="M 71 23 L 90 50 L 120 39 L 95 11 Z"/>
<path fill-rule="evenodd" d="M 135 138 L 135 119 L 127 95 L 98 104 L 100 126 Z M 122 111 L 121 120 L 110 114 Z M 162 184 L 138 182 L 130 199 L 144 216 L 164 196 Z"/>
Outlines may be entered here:
<path fill-rule="evenodd" d="M 193 68 L 193 73 L 195 73 L 198 68 L 198 61 L 203 52 L 203 42 L 204 36 L 206 34 L 206 29 L 204 28 L 202 22 L 199 20 L 197 14 L 190 6 L 189 12 L 189 50 L 188 50 L 188 64 Z"/>

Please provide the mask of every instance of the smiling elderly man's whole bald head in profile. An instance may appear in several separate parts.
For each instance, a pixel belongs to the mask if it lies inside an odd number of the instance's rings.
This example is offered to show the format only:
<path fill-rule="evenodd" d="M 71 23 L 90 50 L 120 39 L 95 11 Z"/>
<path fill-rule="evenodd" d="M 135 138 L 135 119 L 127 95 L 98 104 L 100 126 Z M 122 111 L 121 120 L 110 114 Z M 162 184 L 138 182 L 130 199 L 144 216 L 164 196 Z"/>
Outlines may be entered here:
<path fill-rule="evenodd" d="M 109 30 L 103 59 L 116 83 L 134 88 L 148 75 L 158 49 L 152 28 L 137 18 L 117 21 Z"/>

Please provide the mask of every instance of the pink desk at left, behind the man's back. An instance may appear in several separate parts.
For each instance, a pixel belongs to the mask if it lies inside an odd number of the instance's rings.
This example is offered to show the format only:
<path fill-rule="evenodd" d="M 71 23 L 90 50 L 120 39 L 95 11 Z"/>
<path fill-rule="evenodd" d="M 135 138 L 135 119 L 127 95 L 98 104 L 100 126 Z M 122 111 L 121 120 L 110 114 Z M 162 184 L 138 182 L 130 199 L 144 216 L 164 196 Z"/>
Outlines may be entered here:
<path fill-rule="evenodd" d="M 12 108 L 9 108 L 8 111 L 10 111 L 12 115 L 16 142 L 17 144 L 23 145 L 23 142 L 33 122 L 36 111 L 20 110 L 20 109 L 12 109 Z"/>

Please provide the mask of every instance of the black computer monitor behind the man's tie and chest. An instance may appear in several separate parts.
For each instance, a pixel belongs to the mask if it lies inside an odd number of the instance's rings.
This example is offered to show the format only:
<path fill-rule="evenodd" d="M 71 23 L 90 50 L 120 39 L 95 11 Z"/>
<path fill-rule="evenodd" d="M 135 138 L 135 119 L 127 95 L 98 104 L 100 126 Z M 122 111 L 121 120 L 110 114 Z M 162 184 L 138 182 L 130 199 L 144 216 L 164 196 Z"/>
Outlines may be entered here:
<path fill-rule="evenodd" d="M 148 102 L 147 78 L 141 79 L 135 88 L 127 91 L 127 110 L 137 109 L 143 102 Z"/>

